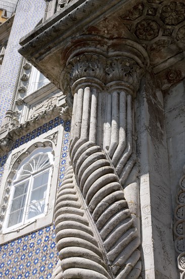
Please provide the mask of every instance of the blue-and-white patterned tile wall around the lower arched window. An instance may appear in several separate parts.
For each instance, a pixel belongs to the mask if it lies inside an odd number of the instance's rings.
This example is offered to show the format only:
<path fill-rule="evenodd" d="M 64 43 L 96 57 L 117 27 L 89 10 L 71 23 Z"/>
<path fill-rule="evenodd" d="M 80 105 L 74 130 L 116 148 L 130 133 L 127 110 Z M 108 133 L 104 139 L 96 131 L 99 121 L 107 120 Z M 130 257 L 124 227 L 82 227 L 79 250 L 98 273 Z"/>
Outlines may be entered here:
<path fill-rule="evenodd" d="M 64 137 L 62 144 L 61 163 L 59 170 L 60 187 L 67 170 L 67 154 L 70 136 L 70 121 L 64 121 L 56 117 L 49 123 L 37 128 L 21 137 L 13 146 L 14 148 L 29 142 L 42 133 L 53 129 L 58 125 L 64 125 Z M 1 174 L 7 155 L 0 158 Z M 52 277 L 52 271 L 58 261 L 58 252 L 55 244 L 54 226 L 43 228 L 29 235 L 20 237 L 0 247 L 0 278 L 21 279 L 38 278 L 47 279 Z"/>

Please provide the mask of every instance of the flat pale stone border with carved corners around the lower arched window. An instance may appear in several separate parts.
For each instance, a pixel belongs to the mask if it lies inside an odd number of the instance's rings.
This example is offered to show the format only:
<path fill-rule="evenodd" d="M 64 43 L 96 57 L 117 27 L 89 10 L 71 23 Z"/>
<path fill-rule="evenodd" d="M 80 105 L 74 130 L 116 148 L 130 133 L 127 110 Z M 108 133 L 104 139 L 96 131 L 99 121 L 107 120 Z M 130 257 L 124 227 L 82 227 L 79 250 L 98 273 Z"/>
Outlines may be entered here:
<path fill-rule="evenodd" d="M 60 136 L 58 134 L 60 133 Z M 7 233 L 2 234 L 0 236 L 1 244 L 7 241 L 10 241 L 14 238 L 20 237 L 24 234 L 29 233 L 30 231 L 35 231 L 40 229 L 44 226 L 51 225 L 53 223 L 53 210 L 55 204 L 55 196 L 57 190 L 57 180 L 58 180 L 58 166 L 60 164 L 60 156 L 61 156 L 61 146 L 62 146 L 62 139 L 63 139 L 63 127 L 62 125 L 54 128 L 50 133 L 42 134 L 39 137 L 35 138 L 34 140 L 29 142 L 28 144 L 24 144 L 19 148 L 10 152 L 8 156 L 7 163 L 5 164 L 5 170 L 2 179 L 2 185 L 0 189 L 1 193 L 1 216 L 0 221 L 1 225 L 3 224 L 3 220 L 6 213 L 7 204 L 9 201 L 10 196 L 10 185 L 12 176 L 12 170 L 18 167 L 19 159 L 23 160 L 27 157 L 33 150 L 36 150 L 39 147 L 47 147 L 50 146 L 53 149 L 55 162 L 53 168 L 53 177 L 51 182 L 51 189 L 50 189 L 50 197 L 49 197 L 49 206 L 50 206 L 50 213 L 44 217 L 37 219 L 35 222 L 28 223 L 26 226 L 21 226 L 18 230 L 10 230 Z M 8 178 L 8 179 L 7 179 Z M 10 181 L 10 182 L 9 182 Z M 10 185 L 9 185 L 10 184 Z M 1 229 L 1 228 L 0 228 Z"/>

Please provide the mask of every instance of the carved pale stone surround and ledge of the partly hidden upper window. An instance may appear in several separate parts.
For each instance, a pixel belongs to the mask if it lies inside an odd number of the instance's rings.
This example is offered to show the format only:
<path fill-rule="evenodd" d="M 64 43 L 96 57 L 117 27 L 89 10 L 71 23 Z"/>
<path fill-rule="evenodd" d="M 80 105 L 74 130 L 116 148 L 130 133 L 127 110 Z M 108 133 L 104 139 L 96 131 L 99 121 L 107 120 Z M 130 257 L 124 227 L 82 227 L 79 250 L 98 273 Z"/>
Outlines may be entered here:
<path fill-rule="evenodd" d="M 51 82 L 27 94 L 31 76 L 31 64 L 24 60 L 14 110 L 7 112 L 11 121 L 2 127 L 0 132 L 0 154 L 10 151 L 13 141 L 20 136 L 47 123 L 49 119 L 61 116 L 63 108 L 66 107 L 65 95 Z M 31 115 L 33 108 L 37 113 Z M 69 119 L 70 113 L 66 114 L 65 111 L 64 117 Z"/>

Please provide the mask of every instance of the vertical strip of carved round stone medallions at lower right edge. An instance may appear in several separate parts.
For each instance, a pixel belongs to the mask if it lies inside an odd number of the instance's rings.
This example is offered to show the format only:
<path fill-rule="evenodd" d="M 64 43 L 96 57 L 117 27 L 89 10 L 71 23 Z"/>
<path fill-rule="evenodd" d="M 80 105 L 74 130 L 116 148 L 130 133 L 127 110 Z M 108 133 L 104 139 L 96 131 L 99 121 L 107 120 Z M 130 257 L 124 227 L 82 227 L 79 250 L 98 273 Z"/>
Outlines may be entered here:
<path fill-rule="evenodd" d="M 175 208 L 174 214 L 177 220 L 174 224 L 174 234 L 176 235 L 175 250 L 179 255 L 177 258 L 177 266 L 181 273 L 180 278 L 183 278 L 185 272 L 185 175 L 183 175 L 179 181 L 179 191 L 176 201 L 178 205 Z"/>

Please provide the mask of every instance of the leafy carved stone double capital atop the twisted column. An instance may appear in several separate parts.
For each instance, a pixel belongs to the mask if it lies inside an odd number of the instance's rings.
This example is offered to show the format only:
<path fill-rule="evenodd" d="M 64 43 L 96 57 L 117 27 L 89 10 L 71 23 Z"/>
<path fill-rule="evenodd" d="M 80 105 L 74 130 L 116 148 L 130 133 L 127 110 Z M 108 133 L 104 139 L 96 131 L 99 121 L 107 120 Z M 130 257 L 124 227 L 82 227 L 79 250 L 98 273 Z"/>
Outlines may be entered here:
<path fill-rule="evenodd" d="M 135 95 L 149 59 L 145 49 L 127 39 L 83 37 L 62 53 L 61 87 L 66 95 L 91 85 L 107 90 L 125 90 Z M 124 48 L 121 46 L 124 45 Z"/>

